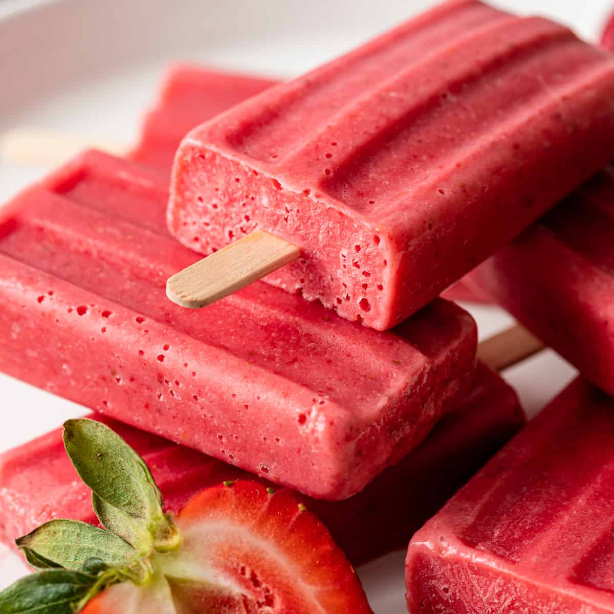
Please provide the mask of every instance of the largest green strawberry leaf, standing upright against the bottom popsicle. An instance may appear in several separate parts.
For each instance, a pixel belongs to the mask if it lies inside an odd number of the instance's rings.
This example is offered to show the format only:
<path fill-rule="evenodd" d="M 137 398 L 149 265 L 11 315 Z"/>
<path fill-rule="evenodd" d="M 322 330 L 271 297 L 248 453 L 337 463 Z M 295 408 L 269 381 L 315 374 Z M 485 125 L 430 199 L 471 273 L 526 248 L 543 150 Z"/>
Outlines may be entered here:
<path fill-rule="evenodd" d="M 171 524 L 143 459 L 109 427 L 89 419 L 64 424 L 64 446 L 81 479 L 99 499 L 136 519 L 156 541 Z"/>

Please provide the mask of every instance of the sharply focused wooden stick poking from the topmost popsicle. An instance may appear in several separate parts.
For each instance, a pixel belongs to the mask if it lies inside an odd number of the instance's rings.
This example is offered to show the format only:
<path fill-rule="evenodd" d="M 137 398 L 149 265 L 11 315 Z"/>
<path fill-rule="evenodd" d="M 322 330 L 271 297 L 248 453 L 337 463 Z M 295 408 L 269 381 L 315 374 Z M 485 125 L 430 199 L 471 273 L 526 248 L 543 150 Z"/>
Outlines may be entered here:
<path fill-rule="evenodd" d="M 273 273 L 300 253 L 292 243 L 255 230 L 173 275 L 166 282 L 166 296 L 177 305 L 200 309 Z"/>

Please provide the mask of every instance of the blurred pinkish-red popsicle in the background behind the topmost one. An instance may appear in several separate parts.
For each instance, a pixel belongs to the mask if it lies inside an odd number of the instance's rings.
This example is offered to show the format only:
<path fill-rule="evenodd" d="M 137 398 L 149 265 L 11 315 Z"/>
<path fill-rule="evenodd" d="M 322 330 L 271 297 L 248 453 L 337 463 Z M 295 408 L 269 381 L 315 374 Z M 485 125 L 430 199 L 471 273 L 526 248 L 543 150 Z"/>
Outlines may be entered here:
<path fill-rule="evenodd" d="M 173 64 L 163 77 L 158 99 L 145 117 L 141 138 L 130 159 L 168 173 L 181 139 L 192 128 L 277 83 L 191 64 Z"/>

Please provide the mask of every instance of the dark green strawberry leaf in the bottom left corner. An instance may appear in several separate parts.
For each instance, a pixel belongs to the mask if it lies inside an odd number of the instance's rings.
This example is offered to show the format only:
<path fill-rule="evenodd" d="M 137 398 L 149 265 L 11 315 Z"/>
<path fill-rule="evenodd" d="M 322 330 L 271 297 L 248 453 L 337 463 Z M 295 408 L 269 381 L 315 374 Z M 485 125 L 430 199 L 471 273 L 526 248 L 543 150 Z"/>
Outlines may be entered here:
<path fill-rule="evenodd" d="M 75 614 L 97 581 L 66 569 L 33 573 L 0 593 L 0 614 Z"/>

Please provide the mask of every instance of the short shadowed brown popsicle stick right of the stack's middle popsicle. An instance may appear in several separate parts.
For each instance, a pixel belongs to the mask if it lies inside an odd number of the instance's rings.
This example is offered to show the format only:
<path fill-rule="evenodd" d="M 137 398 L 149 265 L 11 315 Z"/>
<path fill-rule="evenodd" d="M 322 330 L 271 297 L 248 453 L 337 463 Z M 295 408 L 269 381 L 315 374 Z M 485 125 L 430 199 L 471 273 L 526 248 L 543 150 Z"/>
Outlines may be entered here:
<path fill-rule="evenodd" d="M 544 349 L 544 344 L 524 326 L 516 324 L 482 341 L 478 358 L 495 371 L 503 371 Z"/>

